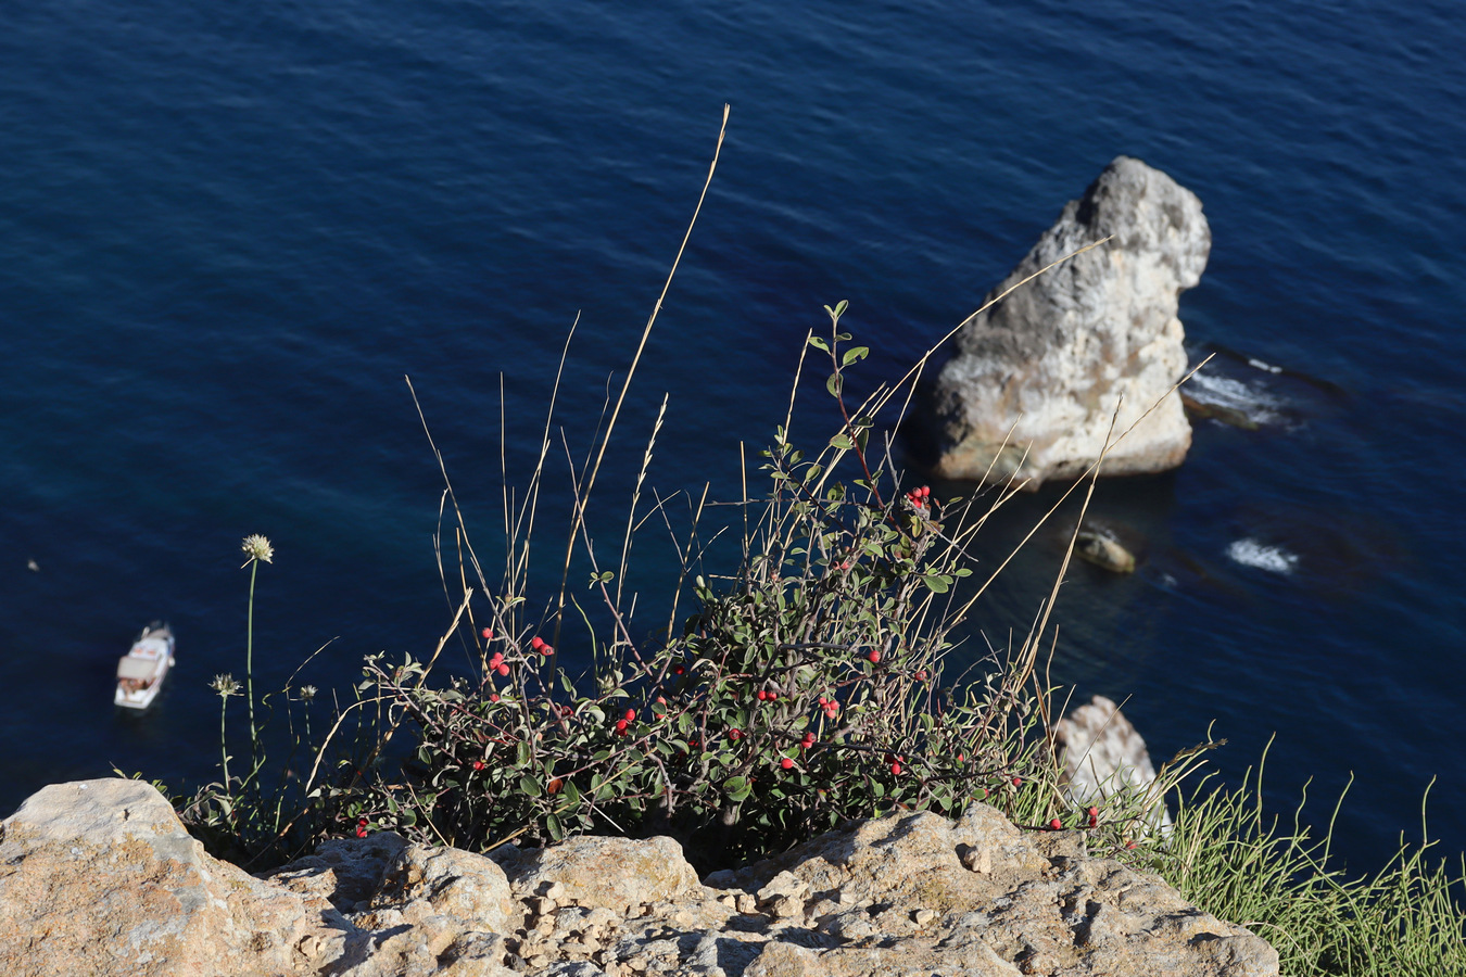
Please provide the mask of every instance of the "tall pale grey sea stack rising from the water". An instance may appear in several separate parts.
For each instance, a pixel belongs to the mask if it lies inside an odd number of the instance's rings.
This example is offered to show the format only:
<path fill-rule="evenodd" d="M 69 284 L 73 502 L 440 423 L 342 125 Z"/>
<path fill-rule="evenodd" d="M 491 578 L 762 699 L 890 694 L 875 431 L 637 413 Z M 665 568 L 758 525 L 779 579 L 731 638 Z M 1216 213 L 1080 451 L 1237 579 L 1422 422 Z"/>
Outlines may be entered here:
<path fill-rule="evenodd" d="M 1117 157 L 988 299 L 1111 234 L 963 324 L 929 391 L 937 475 L 1028 479 L 1026 488 L 1080 475 L 1100 457 L 1117 403 L 1114 437 L 1135 429 L 1101 473 L 1164 472 L 1185 460 L 1190 425 L 1168 391 L 1186 371 L 1179 296 L 1211 252 L 1195 193 Z"/>

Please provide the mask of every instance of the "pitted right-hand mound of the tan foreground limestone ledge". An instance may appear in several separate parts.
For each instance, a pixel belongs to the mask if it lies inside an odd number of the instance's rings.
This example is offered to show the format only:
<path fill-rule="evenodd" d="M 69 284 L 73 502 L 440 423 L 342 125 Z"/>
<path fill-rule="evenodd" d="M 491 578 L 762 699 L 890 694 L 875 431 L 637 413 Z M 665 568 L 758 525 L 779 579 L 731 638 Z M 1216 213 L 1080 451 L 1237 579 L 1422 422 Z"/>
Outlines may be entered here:
<path fill-rule="evenodd" d="M 863 822 L 708 882 L 754 891 L 783 873 L 808 886 L 806 930 L 771 932 L 745 977 L 1278 973 L 1265 940 L 1161 879 L 1088 858 L 1078 832 L 1023 832 L 985 804 L 956 823 Z"/>

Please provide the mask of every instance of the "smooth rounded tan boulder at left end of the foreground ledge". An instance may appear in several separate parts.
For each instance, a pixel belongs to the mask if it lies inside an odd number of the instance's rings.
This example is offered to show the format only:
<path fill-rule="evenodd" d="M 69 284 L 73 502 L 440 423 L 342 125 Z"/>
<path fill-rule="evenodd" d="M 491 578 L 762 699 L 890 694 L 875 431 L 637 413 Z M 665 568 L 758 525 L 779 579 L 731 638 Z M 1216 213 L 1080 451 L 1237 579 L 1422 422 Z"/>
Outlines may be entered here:
<path fill-rule="evenodd" d="M 349 929 L 208 857 L 141 781 L 53 784 L 3 832 L 0 973 L 10 977 L 311 973 Z"/>

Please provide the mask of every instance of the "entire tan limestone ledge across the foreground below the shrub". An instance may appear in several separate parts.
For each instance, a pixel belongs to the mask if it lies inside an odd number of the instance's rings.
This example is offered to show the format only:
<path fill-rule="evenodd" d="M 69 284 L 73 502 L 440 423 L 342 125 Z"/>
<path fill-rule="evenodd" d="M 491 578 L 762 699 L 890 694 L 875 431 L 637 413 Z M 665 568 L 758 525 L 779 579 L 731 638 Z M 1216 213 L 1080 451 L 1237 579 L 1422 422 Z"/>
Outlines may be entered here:
<path fill-rule="evenodd" d="M 390 832 L 268 877 L 210 858 L 135 781 L 4 822 L 0 973 L 274 977 L 1274 977 L 1154 876 L 973 804 L 850 823 L 699 882 L 667 838 L 490 857 Z"/>

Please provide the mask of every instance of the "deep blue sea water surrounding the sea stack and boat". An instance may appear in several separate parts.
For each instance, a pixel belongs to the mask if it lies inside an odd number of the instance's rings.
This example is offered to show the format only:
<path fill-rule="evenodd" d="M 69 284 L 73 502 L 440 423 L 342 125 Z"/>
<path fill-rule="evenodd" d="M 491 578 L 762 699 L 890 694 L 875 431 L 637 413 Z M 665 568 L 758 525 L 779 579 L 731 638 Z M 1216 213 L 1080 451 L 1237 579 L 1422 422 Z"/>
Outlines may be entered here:
<path fill-rule="evenodd" d="M 651 482 L 736 498 L 822 303 L 874 349 L 856 382 L 893 379 L 1141 157 L 1205 205 L 1182 318 L 1198 359 L 1240 353 L 1204 382 L 1259 428 L 1201 422 L 1180 470 L 1101 483 L 1145 560 L 1070 568 L 1053 678 L 1124 700 L 1158 759 L 1215 721 L 1233 781 L 1275 735 L 1278 810 L 1314 778 L 1327 819 L 1353 772 L 1352 864 L 1418 833 L 1432 776 L 1457 844 L 1462 50 L 1429 1 L 0 6 L 0 807 L 113 766 L 217 775 L 205 683 L 243 668 L 246 533 L 277 549 L 262 687 L 323 644 L 298 683 L 431 650 L 441 476 L 403 376 L 493 551 L 501 394 L 522 485 L 579 319 L 557 425 L 583 454 L 729 103 L 608 513 L 664 393 Z M 796 437 L 831 432 L 821 397 Z M 984 558 L 1051 501 L 1019 499 Z M 1057 567 L 1041 533 L 981 634 L 1022 634 Z M 117 715 L 114 658 L 154 617 L 177 669 Z"/>

